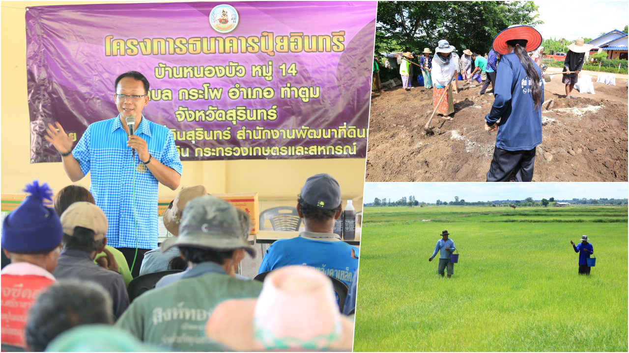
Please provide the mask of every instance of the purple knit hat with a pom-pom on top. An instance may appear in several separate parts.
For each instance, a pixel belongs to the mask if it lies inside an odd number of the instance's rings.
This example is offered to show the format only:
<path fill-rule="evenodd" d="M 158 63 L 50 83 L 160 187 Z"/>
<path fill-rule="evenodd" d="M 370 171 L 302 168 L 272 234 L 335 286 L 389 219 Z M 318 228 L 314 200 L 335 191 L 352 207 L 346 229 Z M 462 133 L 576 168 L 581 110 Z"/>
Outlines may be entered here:
<path fill-rule="evenodd" d="M 61 244 L 64 231 L 55 209 L 45 207 L 43 200 L 52 200 L 48 184 L 35 180 L 26 185 L 31 195 L 6 216 L 2 225 L 2 247 L 11 253 L 40 253 Z"/>

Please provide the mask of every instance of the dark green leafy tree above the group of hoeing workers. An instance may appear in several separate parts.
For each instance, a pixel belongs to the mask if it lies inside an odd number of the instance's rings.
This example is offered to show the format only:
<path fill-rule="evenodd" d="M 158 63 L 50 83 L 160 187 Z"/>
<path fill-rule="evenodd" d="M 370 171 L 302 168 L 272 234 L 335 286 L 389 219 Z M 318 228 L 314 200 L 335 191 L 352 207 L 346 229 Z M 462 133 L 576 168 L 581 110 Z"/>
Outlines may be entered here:
<path fill-rule="evenodd" d="M 445 39 L 459 53 L 486 53 L 511 24 L 542 24 L 537 9 L 533 1 L 380 1 L 375 50 L 419 53 Z"/>

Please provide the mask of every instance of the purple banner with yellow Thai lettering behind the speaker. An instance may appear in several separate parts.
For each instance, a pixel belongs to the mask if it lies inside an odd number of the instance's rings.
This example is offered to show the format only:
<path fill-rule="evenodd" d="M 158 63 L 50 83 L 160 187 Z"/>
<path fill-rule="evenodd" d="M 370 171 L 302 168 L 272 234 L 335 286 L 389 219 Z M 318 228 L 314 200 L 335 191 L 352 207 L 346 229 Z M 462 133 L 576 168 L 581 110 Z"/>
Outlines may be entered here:
<path fill-rule="evenodd" d="M 364 158 L 377 3 L 38 6 L 26 11 L 31 163 L 60 161 L 118 115 L 114 81 L 150 83 L 144 116 L 181 160 Z"/>

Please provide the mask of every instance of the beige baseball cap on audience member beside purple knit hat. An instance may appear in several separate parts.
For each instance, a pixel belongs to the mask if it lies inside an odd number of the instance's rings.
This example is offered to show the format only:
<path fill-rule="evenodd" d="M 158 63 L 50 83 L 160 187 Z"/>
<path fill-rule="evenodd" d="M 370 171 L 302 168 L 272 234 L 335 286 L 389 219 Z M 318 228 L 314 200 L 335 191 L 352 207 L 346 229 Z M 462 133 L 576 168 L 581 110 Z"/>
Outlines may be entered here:
<path fill-rule="evenodd" d="M 79 201 L 70 205 L 61 215 L 61 224 L 64 227 L 64 234 L 72 236 L 75 227 L 84 227 L 94 231 L 94 240 L 103 239 L 109 223 L 103 210 L 91 202 Z"/>

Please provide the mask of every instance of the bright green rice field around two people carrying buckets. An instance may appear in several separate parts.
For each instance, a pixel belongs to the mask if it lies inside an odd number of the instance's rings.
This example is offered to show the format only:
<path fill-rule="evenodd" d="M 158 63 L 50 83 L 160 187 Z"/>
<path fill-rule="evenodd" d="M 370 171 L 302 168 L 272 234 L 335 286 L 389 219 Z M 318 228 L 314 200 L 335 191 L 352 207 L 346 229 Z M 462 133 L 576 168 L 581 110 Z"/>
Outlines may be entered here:
<path fill-rule="evenodd" d="M 355 351 L 628 349 L 626 206 L 365 207 L 362 225 Z M 443 230 L 450 279 L 428 262 Z"/>

